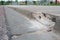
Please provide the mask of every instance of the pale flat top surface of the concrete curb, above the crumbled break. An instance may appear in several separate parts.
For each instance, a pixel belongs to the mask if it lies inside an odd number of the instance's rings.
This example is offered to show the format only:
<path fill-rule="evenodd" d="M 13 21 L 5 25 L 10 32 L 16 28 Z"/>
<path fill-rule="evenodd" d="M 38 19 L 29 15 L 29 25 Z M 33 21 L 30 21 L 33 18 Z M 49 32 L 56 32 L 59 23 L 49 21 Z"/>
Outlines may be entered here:
<path fill-rule="evenodd" d="M 32 12 L 44 12 L 55 16 L 60 16 L 60 6 L 8 6 L 18 9 L 24 9 Z"/>

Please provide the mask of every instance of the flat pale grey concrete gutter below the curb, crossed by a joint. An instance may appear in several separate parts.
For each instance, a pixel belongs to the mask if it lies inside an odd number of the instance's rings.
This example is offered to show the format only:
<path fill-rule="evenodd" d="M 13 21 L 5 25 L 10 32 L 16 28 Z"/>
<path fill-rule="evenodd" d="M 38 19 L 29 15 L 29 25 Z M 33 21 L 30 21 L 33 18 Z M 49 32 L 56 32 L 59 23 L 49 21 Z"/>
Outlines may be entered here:
<path fill-rule="evenodd" d="M 39 32 L 26 33 L 26 32 L 37 30 L 37 29 L 30 28 L 33 26 L 32 23 L 30 22 L 30 20 L 28 20 L 25 16 L 19 14 L 19 12 L 16 12 L 13 9 L 5 7 L 5 10 L 6 10 L 8 27 L 10 28 L 12 35 L 16 36 L 16 37 L 13 36 L 12 40 L 60 40 L 60 36 L 58 36 L 58 34 L 56 34 L 53 31 L 52 32 L 39 31 Z M 58 14 L 59 13 L 60 12 L 58 12 Z M 58 16 L 60 16 L 60 15 L 58 15 Z M 57 22 L 57 26 L 60 24 L 60 23 L 59 24 L 58 23 L 59 22 Z M 23 33 L 26 33 L 26 34 L 20 35 Z"/>

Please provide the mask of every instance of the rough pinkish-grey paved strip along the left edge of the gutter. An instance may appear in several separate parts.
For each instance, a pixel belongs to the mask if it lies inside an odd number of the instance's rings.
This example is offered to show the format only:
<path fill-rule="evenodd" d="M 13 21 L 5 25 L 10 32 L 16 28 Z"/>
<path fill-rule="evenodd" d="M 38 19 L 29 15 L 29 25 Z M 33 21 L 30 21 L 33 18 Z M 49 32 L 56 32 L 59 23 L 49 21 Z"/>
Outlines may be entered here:
<path fill-rule="evenodd" d="M 5 24 L 4 9 L 2 6 L 0 6 L 0 40 L 8 40 L 6 33 L 7 30 Z"/>

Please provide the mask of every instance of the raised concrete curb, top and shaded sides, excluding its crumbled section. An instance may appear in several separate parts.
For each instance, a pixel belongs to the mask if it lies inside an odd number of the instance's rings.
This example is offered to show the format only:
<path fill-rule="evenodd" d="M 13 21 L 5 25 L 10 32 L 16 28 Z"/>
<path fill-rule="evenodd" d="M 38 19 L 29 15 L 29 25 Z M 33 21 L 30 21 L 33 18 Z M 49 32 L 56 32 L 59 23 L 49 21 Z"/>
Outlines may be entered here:
<path fill-rule="evenodd" d="M 47 14 L 54 15 L 56 17 L 56 25 L 54 26 L 54 30 L 57 34 L 60 33 L 60 10 L 59 10 L 60 6 L 33 6 L 33 7 L 32 6 L 14 6 L 11 8 L 14 9 L 15 11 L 19 12 L 19 13 L 21 12 L 21 14 L 23 14 L 25 16 L 28 15 L 27 16 L 28 18 L 30 18 L 31 13 L 42 12 L 42 11 L 44 13 L 46 12 Z"/>

